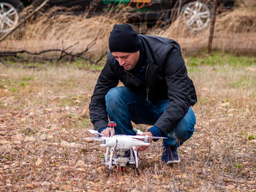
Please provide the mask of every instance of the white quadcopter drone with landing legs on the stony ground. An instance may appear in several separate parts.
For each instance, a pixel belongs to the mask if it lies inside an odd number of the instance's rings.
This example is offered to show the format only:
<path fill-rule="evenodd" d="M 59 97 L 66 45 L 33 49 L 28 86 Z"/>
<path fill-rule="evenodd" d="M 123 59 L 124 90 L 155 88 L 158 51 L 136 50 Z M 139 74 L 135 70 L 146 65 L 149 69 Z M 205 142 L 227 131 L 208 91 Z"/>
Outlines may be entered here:
<path fill-rule="evenodd" d="M 125 170 L 125 166 L 127 166 L 127 164 L 135 165 L 136 168 L 138 168 L 138 151 L 135 150 L 135 148 L 138 146 L 150 145 L 149 138 L 167 139 L 166 137 L 148 137 L 147 135 L 113 135 L 116 123 L 110 121 L 108 126 L 110 126 L 110 137 L 105 137 L 98 131 L 89 129 L 89 132 L 94 134 L 94 137 L 85 138 L 99 141 L 101 147 L 106 147 L 105 166 L 107 166 L 108 169 L 113 169 L 113 167 L 116 166 L 120 167 L 121 170 Z M 143 133 L 140 130 L 137 131 L 138 134 Z M 118 153 L 116 157 L 113 157 L 114 152 Z"/>

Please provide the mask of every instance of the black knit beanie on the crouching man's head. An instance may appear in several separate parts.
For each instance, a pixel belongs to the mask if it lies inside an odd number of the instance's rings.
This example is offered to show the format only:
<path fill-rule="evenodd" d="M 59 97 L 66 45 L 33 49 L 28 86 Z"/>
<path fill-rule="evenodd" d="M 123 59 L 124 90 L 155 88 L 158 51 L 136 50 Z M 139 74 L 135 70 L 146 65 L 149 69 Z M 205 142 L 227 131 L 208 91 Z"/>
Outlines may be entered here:
<path fill-rule="evenodd" d="M 135 53 L 140 50 L 137 32 L 128 24 L 115 25 L 108 39 L 110 52 Z"/>

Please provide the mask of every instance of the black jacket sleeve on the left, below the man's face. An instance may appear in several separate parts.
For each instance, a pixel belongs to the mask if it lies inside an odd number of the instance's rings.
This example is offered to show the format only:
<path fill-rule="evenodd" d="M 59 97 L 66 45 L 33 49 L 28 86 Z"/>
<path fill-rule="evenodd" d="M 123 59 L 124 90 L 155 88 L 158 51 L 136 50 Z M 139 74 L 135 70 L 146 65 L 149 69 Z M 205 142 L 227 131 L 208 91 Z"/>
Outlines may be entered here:
<path fill-rule="evenodd" d="M 99 74 L 89 105 L 91 123 L 94 124 L 94 129 L 97 131 L 99 131 L 100 128 L 108 126 L 105 95 L 110 88 L 114 88 L 118 85 L 118 77 L 116 74 L 116 67 L 113 66 L 113 57 L 110 57 L 102 69 L 102 72 Z"/>

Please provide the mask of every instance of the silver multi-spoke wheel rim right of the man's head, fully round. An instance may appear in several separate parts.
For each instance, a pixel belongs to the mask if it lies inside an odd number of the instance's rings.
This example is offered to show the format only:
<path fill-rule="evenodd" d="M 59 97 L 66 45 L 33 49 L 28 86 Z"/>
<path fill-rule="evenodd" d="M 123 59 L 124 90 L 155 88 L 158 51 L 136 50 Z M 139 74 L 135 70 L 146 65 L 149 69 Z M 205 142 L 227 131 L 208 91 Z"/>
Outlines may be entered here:
<path fill-rule="evenodd" d="M 195 30 L 200 31 L 208 25 L 211 13 L 206 4 L 202 2 L 191 2 L 187 4 L 183 11 L 183 19 L 186 25 Z"/>

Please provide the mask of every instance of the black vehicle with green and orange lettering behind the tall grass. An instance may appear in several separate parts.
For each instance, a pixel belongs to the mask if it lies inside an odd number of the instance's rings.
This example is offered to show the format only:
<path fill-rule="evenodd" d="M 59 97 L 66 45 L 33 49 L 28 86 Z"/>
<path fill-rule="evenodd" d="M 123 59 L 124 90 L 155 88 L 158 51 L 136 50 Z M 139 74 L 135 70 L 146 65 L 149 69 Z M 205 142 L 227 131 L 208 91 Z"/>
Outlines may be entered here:
<path fill-rule="evenodd" d="M 18 15 L 25 7 L 42 2 L 43 0 L 0 0 L 0 33 L 7 33 L 18 24 Z M 230 9 L 234 0 L 222 0 L 221 4 Z M 205 28 L 211 18 L 211 4 L 207 0 L 50 0 L 45 9 L 54 6 L 73 7 L 74 14 L 88 11 L 89 16 L 110 10 L 124 12 L 127 23 L 148 24 L 157 23 L 159 20 L 170 23 L 181 12 L 184 23 L 195 31 Z"/>

